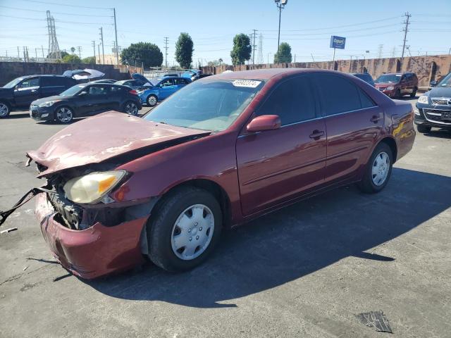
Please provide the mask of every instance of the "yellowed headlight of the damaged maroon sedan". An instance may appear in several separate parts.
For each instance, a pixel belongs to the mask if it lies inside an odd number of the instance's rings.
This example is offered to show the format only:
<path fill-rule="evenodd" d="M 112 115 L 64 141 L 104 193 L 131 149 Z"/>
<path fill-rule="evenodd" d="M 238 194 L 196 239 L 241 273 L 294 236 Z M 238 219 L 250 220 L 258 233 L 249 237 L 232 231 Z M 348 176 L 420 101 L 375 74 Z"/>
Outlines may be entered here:
<path fill-rule="evenodd" d="M 64 184 L 63 190 L 70 201 L 94 204 L 111 192 L 126 173 L 125 170 L 116 170 L 75 177 Z"/>

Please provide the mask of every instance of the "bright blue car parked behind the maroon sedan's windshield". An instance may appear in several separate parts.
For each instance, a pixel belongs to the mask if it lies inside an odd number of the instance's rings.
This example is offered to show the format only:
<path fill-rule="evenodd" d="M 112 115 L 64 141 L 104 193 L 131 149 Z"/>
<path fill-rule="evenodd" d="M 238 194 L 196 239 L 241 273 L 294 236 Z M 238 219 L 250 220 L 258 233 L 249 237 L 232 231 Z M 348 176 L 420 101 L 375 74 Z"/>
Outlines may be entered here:
<path fill-rule="evenodd" d="M 162 79 L 154 79 L 150 81 L 152 87 L 138 92 L 141 103 L 154 107 L 159 101 L 163 101 L 166 97 L 178 91 L 191 83 L 186 77 L 163 77 Z"/>

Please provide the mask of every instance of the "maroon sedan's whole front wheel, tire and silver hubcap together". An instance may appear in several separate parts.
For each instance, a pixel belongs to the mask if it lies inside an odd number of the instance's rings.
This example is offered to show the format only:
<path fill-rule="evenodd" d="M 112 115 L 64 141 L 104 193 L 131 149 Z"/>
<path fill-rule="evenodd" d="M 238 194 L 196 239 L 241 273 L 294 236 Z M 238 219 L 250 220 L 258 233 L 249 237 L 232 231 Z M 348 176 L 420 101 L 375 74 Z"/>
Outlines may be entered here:
<path fill-rule="evenodd" d="M 212 194 L 176 189 L 163 197 L 147 223 L 149 258 L 164 270 L 190 270 L 213 251 L 221 230 L 221 207 Z"/>

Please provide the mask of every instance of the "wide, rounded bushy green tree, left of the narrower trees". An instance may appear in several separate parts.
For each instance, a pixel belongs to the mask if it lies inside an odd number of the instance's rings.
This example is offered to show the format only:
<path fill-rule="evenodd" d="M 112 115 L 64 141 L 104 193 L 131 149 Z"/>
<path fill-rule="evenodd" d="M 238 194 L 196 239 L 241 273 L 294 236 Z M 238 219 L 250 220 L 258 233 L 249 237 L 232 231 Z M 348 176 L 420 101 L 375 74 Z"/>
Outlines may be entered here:
<path fill-rule="evenodd" d="M 138 42 L 137 44 L 130 44 L 128 48 L 123 49 L 121 53 L 122 61 L 128 62 L 130 65 L 138 65 L 141 63 L 144 67 L 159 67 L 163 63 L 163 53 L 156 44 L 150 42 Z"/>

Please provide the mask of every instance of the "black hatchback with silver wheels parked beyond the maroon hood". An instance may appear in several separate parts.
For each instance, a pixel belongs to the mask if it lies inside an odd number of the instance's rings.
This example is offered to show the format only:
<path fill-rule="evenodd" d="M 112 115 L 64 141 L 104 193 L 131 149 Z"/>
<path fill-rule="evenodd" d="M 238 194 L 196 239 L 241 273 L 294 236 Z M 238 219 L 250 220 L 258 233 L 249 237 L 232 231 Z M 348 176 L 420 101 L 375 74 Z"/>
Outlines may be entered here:
<path fill-rule="evenodd" d="M 137 115 L 142 108 L 135 89 L 107 83 L 77 84 L 58 96 L 33 101 L 30 117 L 70 123 L 74 118 L 96 115 L 104 111 L 122 111 Z"/>

